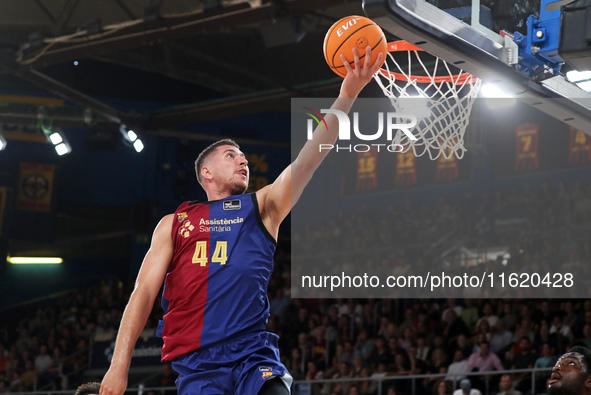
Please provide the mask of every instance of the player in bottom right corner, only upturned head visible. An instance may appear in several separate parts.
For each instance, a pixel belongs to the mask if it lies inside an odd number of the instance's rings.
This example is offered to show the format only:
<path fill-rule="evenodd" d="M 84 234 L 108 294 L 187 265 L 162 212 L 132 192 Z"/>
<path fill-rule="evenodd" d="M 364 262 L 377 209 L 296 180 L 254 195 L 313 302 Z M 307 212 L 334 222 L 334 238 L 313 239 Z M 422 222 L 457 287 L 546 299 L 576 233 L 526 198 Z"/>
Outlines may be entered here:
<path fill-rule="evenodd" d="M 571 348 L 552 368 L 548 395 L 591 394 L 591 351 L 585 347 Z"/>

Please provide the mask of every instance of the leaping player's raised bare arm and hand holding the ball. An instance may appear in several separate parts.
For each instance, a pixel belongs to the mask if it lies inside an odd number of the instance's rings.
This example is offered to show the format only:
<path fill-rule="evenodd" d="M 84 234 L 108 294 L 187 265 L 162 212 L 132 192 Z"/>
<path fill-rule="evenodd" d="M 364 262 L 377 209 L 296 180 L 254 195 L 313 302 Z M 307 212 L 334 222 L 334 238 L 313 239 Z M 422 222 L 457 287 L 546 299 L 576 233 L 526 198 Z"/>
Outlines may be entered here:
<path fill-rule="evenodd" d="M 373 75 L 382 64 L 383 55 L 380 53 L 374 64 L 365 62 L 360 66 L 357 48 L 353 49 L 355 68 L 351 68 L 345 57 L 341 60 L 347 69 L 347 76 L 341 85 L 341 91 L 331 109 L 348 113 L 365 85 L 371 81 Z M 365 59 L 371 59 L 371 48 L 367 47 Z M 328 154 L 328 150 L 319 150 L 320 144 L 334 144 L 339 134 L 339 122 L 334 114 L 325 116 L 327 130 L 316 127 L 311 140 L 302 147 L 298 157 L 273 182 L 257 191 L 261 218 L 267 230 L 277 238 L 279 225 L 287 217 L 291 208 L 297 203 L 304 188 L 312 175 Z"/>

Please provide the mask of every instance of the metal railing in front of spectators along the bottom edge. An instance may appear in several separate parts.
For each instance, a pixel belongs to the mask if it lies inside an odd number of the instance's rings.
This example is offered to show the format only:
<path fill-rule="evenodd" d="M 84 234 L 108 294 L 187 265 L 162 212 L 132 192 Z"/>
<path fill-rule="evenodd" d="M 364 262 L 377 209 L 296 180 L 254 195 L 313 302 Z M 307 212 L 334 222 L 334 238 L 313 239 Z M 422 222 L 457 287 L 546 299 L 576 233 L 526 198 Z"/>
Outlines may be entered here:
<path fill-rule="evenodd" d="M 385 376 L 385 377 L 367 377 L 367 378 L 337 378 L 337 379 L 318 379 L 318 380 L 296 380 L 294 382 L 293 395 L 324 395 L 330 394 L 330 391 L 322 389 L 325 385 L 331 387 L 337 384 L 352 385 L 363 382 L 373 382 L 376 385 L 375 395 L 386 395 L 387 388 L 396 385 L 396 382 L 403 380 L 410 380 L 410 392 L 404 392 L 404 395 L 417 395 L 418 382 L 427 378 L 432 379 L 445 379 L 452 377 L 449 381 L 453 383 L 453 388 L 456 389 L 459 386 L 459 381 L 463 378 L 478 378 L 481 377 L 484 381 L 484 390 L 482 395 L 492 395 L 498 392 L 498 381 L 504 374 L 514 375 L 516 373 L 528 373 L 529 380 L 531 380 L 532 394 L 545 393 L 545 388 L 536 388 L 536 380 L 547 379 L 550 375 L 551 368 L 538 368 L 538 369 L 513 369 L 513 370 L 494 370 L 490 372 L 470 372 L 470 373 L 442 373 L 442 374 L 420 374 L 420 375 L 405 375 L 405 376 Z M 544 377 L 545 376 L 545 377 Z M 492 381 L 495 380 L 495 385 Z M 473 388 L 475 380 L 472 380 Z M 331 388 L 332 389 L 332 388 Z M 148 387 L 140 385 L 139 387 L 128 388 L 126 393 L 146 395 L 148 392 L 154 392 L 158 395 L 162 394 L 174 394 L 176 393 L 176 387 Z M 35 392 L 19 392 L 19 395 L 71 395 L 74 394 L 75 390 L 61 390 L 61 391 L 35 391 Z M 359 393 L 362 393 L 361 391 Z M 11 394 L 8 392 L 6 394 Z M 16 394 L 16 393 L 15 393 Z"/>

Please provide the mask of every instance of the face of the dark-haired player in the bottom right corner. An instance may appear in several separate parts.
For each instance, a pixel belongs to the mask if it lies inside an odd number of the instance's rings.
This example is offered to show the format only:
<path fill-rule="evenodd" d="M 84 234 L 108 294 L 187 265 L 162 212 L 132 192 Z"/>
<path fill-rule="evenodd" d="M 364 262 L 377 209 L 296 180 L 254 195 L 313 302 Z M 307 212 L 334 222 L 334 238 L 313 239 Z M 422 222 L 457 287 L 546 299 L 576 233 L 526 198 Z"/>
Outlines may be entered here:
<path fill-rule="evenodd" d="M 548 380 L 549 395 L 579 395 L 585 392 L 589 383 L 587 367 L 579 353 L 564 354 L 552 368 Z"/>

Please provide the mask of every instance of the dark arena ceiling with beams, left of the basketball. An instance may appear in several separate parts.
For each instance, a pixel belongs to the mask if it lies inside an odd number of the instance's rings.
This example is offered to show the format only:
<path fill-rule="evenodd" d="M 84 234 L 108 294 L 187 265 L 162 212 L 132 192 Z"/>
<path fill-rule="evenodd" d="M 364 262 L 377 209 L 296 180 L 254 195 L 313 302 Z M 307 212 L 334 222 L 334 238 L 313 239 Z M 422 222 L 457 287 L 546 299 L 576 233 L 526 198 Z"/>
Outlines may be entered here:
<path fill-rule="evenodd" d="M 361 0 L 10 0 L 0 12 L 0 84 L 66 99 L 64 127 L 183 125 L 289 110 L 291 97 L 335 96 L 341 79 L 322 41 Z M 106 98 L 150 100 L 132 115 Z M 10 102 L 10 99 L 3 99 Z M 33 103 L 34 104 L 34 103 Z M 8 103 L 4 122 L 34 123 L 37 109 Z"/>

